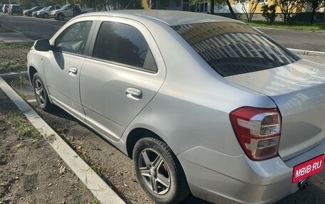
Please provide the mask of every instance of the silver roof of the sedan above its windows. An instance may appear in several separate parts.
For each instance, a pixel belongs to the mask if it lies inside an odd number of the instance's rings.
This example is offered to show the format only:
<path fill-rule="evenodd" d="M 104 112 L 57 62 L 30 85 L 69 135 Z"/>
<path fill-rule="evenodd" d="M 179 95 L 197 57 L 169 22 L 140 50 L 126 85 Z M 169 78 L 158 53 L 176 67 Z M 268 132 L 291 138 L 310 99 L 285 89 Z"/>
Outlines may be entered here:
<path fill-rule="evenodd" d="M 115 16 L 123 18 L 132 18 L 141 21 L 155 19 L 167 23 L 169 26 L 177 26 L 190 23 L 207 23 L 207 22 L 239 22 L 231 18 L 222 16 L 200 14 L 197 12 L 187 11 L 167 11 L 167 10 L 120 10 L 120 11 L 100 11 L 85 14 L 83 16 Z"/>

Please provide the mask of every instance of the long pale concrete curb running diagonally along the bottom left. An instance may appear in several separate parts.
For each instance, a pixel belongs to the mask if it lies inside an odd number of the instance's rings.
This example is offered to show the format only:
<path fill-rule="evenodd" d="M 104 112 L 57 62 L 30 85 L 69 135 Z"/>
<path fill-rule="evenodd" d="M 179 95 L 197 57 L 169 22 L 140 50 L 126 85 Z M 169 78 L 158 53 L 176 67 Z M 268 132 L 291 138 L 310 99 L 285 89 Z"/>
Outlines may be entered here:
<path fill-rule="evenodd" d="M 9 75 L 6 75 L 9 77 Z M 76 173 L 76 176 L 87 186 L 91 193 L 105 204 L 125 204 L 125 202 L 97 175 L 88 164 L 56 134 L 51 127 L 46 124 L 41 117 L 29 106 L 0 76 L 0 88 L 4 90 L 6 95 L 16 104 L 23 112 L 29 122 L 38 129 L 43 137 L 48 141 L 56 153 L 61 156 L 63 161 Z"/>

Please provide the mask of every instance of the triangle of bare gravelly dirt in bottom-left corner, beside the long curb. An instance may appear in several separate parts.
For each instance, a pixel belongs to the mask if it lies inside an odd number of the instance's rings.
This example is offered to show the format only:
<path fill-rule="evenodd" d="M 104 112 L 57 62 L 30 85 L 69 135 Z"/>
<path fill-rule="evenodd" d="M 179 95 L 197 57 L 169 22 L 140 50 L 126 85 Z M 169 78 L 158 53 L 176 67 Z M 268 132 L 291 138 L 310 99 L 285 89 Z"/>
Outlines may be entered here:
<path fill-rule="evenodd" d="M 0 90 L 0 203 L 97 203 Z"/>

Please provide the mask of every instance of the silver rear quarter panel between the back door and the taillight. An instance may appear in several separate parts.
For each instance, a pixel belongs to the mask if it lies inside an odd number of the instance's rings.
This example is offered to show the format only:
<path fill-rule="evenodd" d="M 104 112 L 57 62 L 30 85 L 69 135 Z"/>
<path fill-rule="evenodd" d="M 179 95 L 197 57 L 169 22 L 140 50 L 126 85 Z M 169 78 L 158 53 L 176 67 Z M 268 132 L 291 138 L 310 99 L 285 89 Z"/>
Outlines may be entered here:
<path fill-rule="evenodd" d="M 247 104 L 272 108 L 276 107 L 274 102 L 265 95 L 224 80 L 190 45 L 178 38 L 177 33 L 174 37 L 156 29 L 160 35 L 155 36 L 155 41 L 166 63 L 166 80 L 125 131 L 123 141 L 132 129 L 143 127 L 162 137 L 175 154 L 195 146 L 229 156 L 242 154 L 229 112 Z M 172 52 L 168 43 L 173 45 Z M 175 53 L 179 54 L 177 58 Z"/>

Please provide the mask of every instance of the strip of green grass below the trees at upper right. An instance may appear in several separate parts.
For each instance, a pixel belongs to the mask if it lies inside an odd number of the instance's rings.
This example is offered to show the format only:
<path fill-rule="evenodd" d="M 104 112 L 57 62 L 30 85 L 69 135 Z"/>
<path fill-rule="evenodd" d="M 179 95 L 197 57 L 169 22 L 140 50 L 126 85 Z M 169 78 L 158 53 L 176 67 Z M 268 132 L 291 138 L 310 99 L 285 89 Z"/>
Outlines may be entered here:
<path fill-rule="evenodd" d="M 247 21 L 244 21 L 247 23 Z M 319 31 L 325 30 L 325 23 L 308 23 L 308 22 L 293 22 L 288 23 L 284 21 L 274 21 L 272 24 L 268 25 L 267 21 L 252 21 L 248 23 L 250 26 L 254 27 L 264 27 L 264 28 L 282 28 L 282 29 L 292 29 L 299 31 Z"/>

